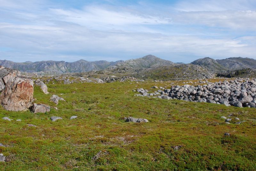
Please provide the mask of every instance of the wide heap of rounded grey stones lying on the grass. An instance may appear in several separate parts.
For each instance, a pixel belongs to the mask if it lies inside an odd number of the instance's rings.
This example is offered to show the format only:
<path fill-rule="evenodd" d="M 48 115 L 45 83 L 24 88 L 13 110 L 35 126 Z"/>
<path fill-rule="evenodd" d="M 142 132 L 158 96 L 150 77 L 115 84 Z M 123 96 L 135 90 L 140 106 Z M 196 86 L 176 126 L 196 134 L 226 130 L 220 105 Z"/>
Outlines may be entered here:
<path fill-rule="evenodd" d="M 204 85 L 191 86 L 172 86 L 170 89 L 158 89 L 149 93 L 147 89 L 137 89 L 137 96 L 157 97 L 163 99 L 179 99 L 191 102 L 207 102 L 223 104 L 236 107 L 256 108 L 256 79 L 245 81 L 235 79 L 234 81 L 224 82 L 201 82 Z M 152 88 L 157 88 L 152 87 Z M 135 91 L 135 90 L 134 90 Z"/>

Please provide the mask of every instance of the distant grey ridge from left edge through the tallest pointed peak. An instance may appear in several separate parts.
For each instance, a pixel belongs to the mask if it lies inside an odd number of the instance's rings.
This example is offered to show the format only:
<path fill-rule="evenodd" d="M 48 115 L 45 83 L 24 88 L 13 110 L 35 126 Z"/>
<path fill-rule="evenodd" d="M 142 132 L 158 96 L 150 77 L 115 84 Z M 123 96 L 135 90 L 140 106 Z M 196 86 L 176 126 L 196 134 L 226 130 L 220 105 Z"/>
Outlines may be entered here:
<path fill-rule="evenodd" d="M 147 55 L 142 58 L 131 60 L 119 60 L 116 62 L 108 62 L 105 60 L 89 62 L 79 60 L 76 62 L 65 61 L 40 61 L 40 62 L 23 62 L 17 63 L 8 60 L 0 60 L 0 65 L 19 70 L 21 72 L 44 72 L 48 74 L 63 74 L 63 73 L 81 73 L 92 70 L 103 70 L 108 67 L 132 67 L 132 68 L 154 68 L 158 66 L 172 65 L 173 62 L 157 58 L 153 55 Z"/>

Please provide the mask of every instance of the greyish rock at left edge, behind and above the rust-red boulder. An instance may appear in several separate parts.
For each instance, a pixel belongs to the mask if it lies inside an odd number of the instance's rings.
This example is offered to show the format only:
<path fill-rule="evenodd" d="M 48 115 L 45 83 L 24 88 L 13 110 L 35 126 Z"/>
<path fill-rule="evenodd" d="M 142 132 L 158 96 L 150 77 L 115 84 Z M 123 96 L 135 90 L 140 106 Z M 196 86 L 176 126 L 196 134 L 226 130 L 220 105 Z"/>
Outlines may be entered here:
<path fill-rule="evenodd" d="M 0 66 L 0 91 L 3 91 L 7 82 L 13 81 L 16 76 L 20 76 L 20 71 Z"/>

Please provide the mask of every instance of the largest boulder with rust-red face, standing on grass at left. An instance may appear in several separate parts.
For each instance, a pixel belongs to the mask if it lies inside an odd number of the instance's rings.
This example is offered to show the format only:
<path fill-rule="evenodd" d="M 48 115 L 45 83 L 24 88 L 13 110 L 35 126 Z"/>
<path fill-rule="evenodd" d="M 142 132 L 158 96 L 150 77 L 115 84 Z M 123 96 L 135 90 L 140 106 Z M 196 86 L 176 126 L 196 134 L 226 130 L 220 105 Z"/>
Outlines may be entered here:
<path fill-rule="evenodd" d="M 0 95 L 1 105 L 8 111 L 28 109 L 33 102 L 33 80 L 26 77 L 15 77 L 7 81 Z"/>

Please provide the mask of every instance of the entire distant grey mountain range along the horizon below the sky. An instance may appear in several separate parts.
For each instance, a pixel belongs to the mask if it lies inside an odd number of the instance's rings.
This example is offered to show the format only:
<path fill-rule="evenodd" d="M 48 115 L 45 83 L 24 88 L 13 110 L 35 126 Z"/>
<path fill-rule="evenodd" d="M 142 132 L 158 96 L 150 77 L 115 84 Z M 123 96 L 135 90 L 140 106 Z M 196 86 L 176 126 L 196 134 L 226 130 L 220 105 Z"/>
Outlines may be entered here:
<path fill-rule="evenodd" d="M 114 68 L 159 68 L 163 66 L 174 67 L 174 66 L 186 66 L 188 64 L 173 63 L 169 60 L 157 58 L 154 55 L 147 55 L 142 58 L 130 59 L 130 60 L 119 60 L 116 62 L 108 62 L 105 60 L 100 61 L 86 61 L 78 60 L 76 62 L 65 62 L 65 61 L 40 61 L 40 62 L 23 62 L 17 63 L 8 60 L 0 60 L 0 65 L 21 72 L 48 72 L 54 74 L 63 73 L 82 73 L 92 70 L 105 70 Z M 245 68 L 256 68 L 256 60 L 252 58 L 226 58 L 226 59 L 212 59 L 209 57 L 200 58 L 190 63 L 190 65 L 196 65 L 207 69 L 210 73 L 219 73 L 223 71 L 234 71 Z"/>

